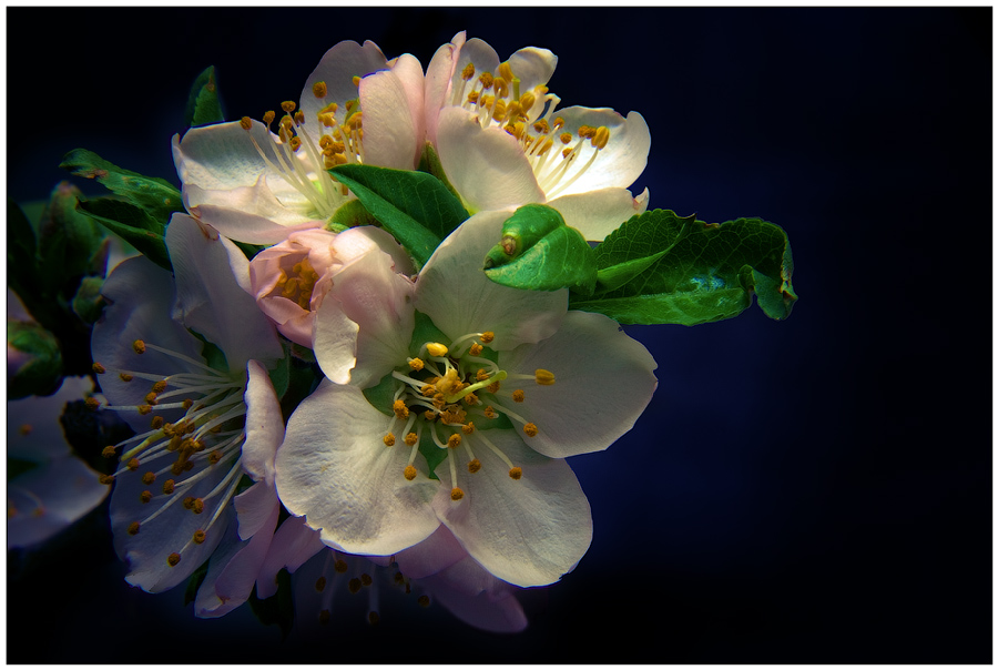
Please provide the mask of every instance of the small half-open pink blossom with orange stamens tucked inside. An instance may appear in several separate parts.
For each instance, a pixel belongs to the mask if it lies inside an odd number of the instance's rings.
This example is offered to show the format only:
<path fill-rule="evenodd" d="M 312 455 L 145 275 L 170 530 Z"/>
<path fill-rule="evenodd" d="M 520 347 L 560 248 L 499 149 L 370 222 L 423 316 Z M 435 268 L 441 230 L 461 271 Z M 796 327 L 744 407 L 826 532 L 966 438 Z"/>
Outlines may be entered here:
<path fill-rule="evenodd" d="M 405 251 L 380 229 L 360 226 L 339 234 L 299 231 L 253 257 L 251 293 L 282 335 L 312 347 L 315 311 L 323 304 L 333 278 L 344 266 L 375 251 L 389 254 L 396 272 L 415 273 Z"/>

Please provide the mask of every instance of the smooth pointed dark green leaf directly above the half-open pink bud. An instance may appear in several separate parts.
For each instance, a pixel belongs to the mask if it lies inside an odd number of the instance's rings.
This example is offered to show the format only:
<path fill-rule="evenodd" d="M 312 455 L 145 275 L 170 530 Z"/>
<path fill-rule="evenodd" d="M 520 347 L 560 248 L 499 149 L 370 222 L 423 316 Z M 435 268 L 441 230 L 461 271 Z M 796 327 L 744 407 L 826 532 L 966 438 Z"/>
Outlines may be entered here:
<path fill-rule="evenodd" d="M 424 172 L 346 164 L 330 173 L 406 248 L 417 268 L 468 219 L 468 212 L 447 186 Z"/>

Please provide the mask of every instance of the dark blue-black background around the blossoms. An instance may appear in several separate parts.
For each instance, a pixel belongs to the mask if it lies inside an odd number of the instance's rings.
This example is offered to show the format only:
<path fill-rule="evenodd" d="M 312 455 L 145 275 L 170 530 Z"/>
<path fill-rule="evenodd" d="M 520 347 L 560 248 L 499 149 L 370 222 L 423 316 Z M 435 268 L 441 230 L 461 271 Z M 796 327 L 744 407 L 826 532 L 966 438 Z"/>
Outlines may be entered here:
<path fill-rule="evenodd" d="M 9 661 L 990 662 L 990 8 L 7 16 L 18 201 L 77 146 L 175 181 L 170 138 L 210 64 L 227 116 L 258 118 L 339 40 L 425 67 L 466 29 L 500 58 L 551 49 L 566 105 L 640 111 L 635 192 L 782 225 L 801 296 L 785 323 L 628 328 L 659 389 L 632 433 L 571 460 L 592 547 L 523 599 L 522 635 L 439 608 L 340 617 L 315 646 L 247 611 L 195 620 L 180 591 L 128 588 L 95 515 L 10 562 Z"/>

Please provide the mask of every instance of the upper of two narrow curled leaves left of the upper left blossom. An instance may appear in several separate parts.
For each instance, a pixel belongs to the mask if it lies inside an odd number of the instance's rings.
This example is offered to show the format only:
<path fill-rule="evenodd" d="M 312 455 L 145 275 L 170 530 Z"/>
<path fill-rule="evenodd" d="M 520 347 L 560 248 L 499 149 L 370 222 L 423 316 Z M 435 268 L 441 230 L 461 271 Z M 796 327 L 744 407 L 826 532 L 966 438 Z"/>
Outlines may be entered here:
<path fill-rule="evenodd" d="M 92 151 L 74 149 L 59 165 L 77 176 L 95 179 L 108 190 L 123 196 L 136 207 L 145 210 L 160 224 L 159 233 L 170 223 L 174 212 L 183 212 L 181 192 L 170 182 L 156 176 L 119 168 Z M 150 229 L 153 230 L 153 229 Z"/>

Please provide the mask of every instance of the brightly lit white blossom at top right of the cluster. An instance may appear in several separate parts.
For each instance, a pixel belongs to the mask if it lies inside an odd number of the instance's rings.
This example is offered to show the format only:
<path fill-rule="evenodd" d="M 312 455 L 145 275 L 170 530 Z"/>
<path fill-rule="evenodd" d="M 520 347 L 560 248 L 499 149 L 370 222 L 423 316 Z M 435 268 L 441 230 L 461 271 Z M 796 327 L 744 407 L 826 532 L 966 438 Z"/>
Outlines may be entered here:
<path fill-rule="evenodd" d="M 547 203 L 601 241 L 648 205 L 648 190 L 634 199 L 628 186 L 651 135 L 638 112 L 557 109 L 547 87 L 557 62 L 528 47 L 500 63 L 486 42 L 456 34 L 427 68 L 427 141 L 470 212 Z"/>

